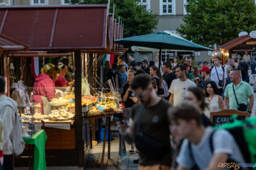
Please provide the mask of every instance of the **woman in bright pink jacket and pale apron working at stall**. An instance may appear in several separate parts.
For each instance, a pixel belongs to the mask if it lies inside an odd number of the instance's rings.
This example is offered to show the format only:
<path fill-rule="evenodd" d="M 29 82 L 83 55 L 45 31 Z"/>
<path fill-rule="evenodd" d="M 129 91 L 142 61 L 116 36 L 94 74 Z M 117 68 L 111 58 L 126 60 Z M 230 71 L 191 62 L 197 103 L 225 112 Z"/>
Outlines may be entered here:
<path fill-rule="evenodd" d="M 54 85 L 54 81 L 56 81 L 59 76 L 59 68 L 53 67 L 48 71 L 42 72 L 42 74 L 35 78 L 32 102 L 41 103 L 41 114 L 49 115 L 51 113 L 49 102 L 59 95 L 59 93 L 55 94 L 56 90 Z"/>

